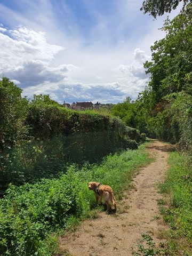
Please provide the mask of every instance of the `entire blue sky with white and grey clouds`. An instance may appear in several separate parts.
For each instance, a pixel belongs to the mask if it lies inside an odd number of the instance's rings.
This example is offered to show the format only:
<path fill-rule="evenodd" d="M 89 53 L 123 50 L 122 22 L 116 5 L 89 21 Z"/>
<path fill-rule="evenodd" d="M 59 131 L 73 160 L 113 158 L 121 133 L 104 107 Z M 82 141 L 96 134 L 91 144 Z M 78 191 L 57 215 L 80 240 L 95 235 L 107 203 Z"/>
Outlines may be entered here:
<path fill-rule="evenodd" d="M 8 77 L 28 99 L 137 99 L 149 81 L 143 63 L 165 36 L 159 28 L 167 17 L 144 15 L 142 2 L 0 0 L 0 78 Z"/>

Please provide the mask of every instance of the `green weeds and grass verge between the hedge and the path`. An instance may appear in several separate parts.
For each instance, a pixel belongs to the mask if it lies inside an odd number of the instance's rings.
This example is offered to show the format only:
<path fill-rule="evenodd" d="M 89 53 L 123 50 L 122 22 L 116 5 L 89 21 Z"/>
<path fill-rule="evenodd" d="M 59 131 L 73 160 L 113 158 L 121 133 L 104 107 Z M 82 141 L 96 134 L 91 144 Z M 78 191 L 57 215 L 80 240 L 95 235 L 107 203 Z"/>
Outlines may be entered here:
<path fill-rule="evenodd" d="M 59 179 L 18 187 L 10 184 L 0 200 L 0 254 L 54 254 L 58 233 L 82 219 L 97 218 L 88 182 L 107 183 L 118 197 L 139 167 L 149 163 L 144 149 L 142 145 L 138 150 L 109 155 L 100 165 L 85 164 L 81 170 L 71 165 Z"/>

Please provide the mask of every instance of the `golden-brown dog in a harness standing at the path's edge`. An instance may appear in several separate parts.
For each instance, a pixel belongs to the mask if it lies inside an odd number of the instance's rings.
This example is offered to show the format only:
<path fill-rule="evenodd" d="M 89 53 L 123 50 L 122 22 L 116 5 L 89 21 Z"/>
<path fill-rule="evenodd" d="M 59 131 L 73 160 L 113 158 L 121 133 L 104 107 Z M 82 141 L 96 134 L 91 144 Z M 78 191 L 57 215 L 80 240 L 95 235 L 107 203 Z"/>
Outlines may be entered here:
<path fill-rule="evenodd" d="M 91 181 L 89 182 L 88 187 L 90 190 L 94 191 L 97 204 L 99 202 L 99 199 L 100 201 L 104 199 L 105 203 L 107 204 L 107 213 L 109 213 L 111 210 L 110 202 L 114 206 L 114 211 L 116 211 L 115 197 L 113 189 L 110 186 L 102 185 L 99 182 Z"/>

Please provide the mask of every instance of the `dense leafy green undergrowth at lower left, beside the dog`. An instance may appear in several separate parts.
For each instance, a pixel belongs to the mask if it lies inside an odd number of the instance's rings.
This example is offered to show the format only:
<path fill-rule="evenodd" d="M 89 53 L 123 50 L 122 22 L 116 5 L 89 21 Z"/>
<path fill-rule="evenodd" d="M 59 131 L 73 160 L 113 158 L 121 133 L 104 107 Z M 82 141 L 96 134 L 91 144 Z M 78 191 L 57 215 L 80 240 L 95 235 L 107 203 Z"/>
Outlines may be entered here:
<path fill-rule="evenodd" d="M 37 255 L 47 232 L 68 227 L 71 215 L 85 209 L 81 183 L 70 169 L 59 180 L 10 185 L 0 204 L 1 253 L 6 255 Z"/>

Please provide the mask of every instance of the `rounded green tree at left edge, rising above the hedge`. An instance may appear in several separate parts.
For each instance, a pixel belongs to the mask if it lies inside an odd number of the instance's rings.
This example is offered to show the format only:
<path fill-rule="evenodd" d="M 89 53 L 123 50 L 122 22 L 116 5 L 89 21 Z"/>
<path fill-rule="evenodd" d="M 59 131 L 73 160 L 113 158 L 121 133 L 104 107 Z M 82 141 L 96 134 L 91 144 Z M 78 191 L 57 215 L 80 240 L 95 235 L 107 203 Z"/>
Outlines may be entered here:
<path fill-rule="evenodd" d="M 0 81 L 0 150 L 11 148 L 26 132 L 24 125 L 28 100 L 7 77 Z"/>

